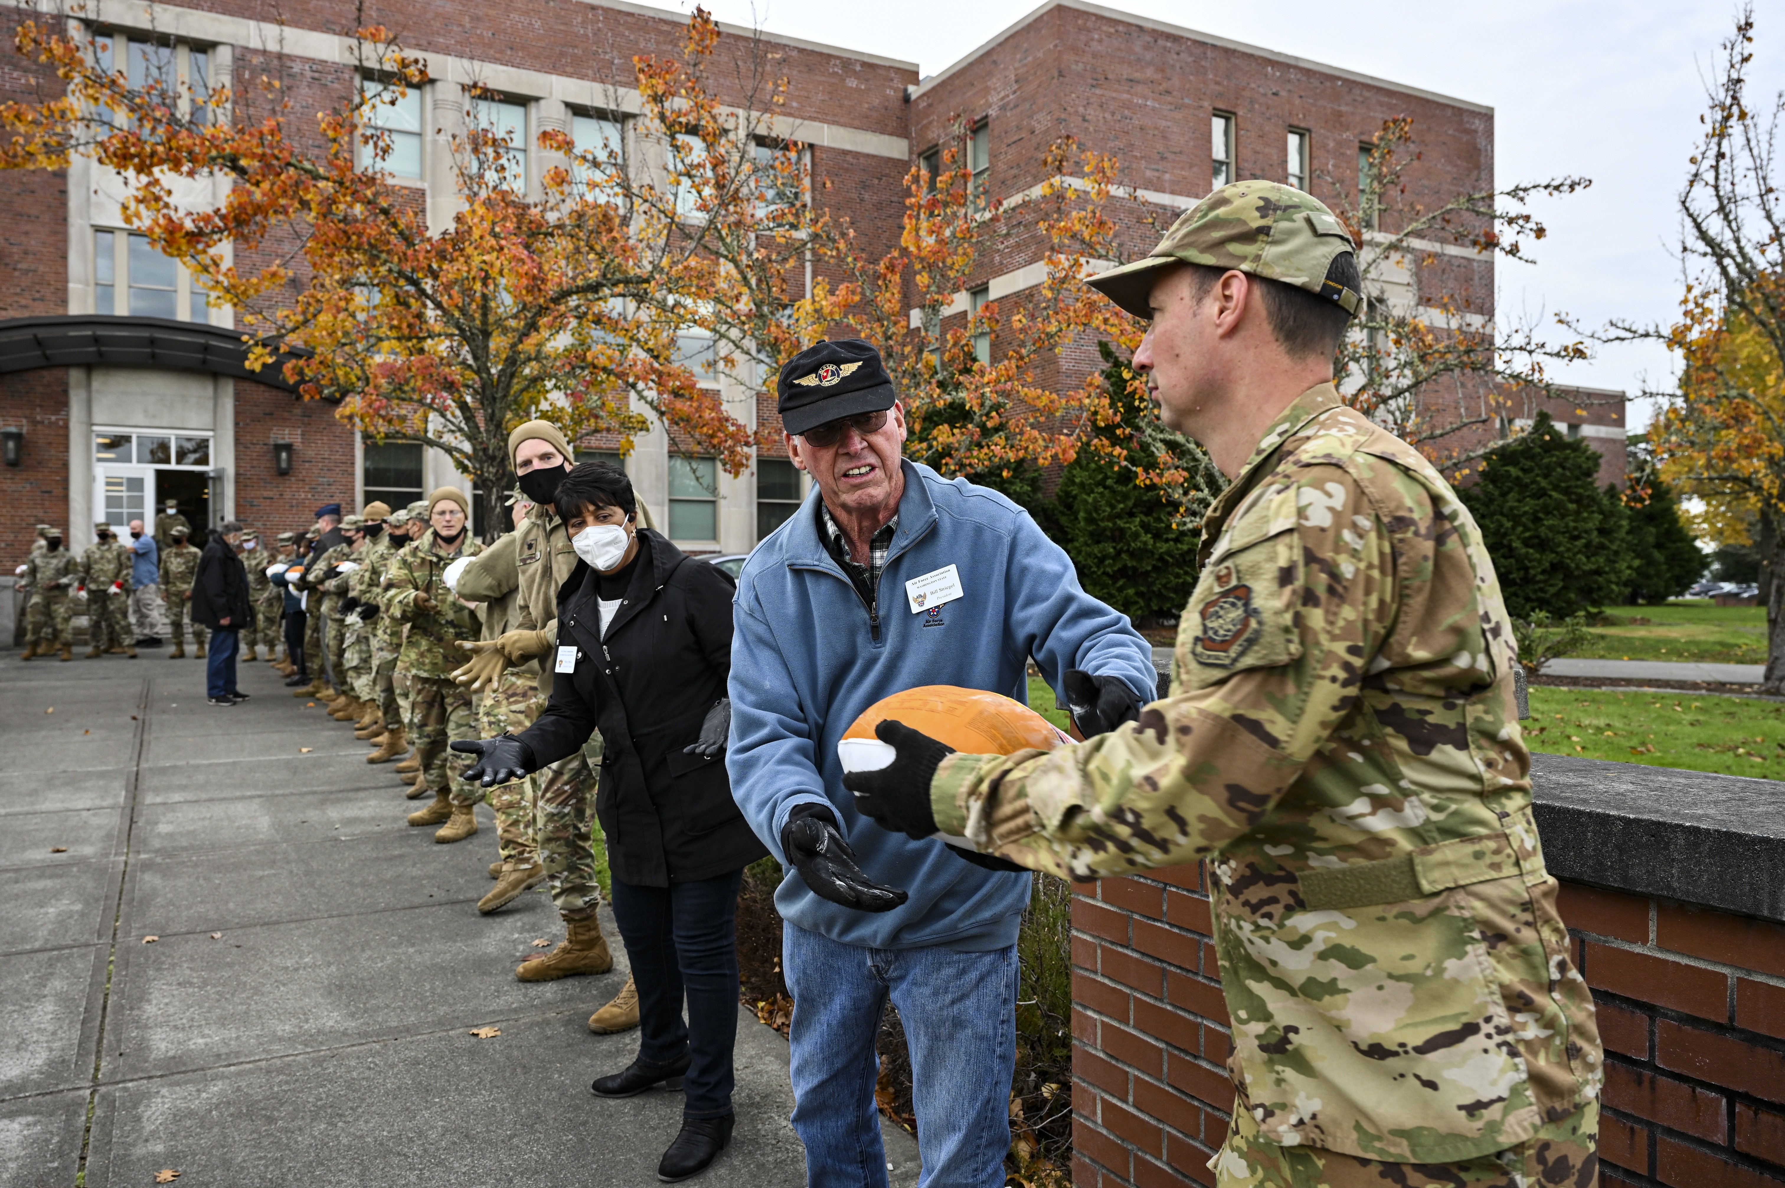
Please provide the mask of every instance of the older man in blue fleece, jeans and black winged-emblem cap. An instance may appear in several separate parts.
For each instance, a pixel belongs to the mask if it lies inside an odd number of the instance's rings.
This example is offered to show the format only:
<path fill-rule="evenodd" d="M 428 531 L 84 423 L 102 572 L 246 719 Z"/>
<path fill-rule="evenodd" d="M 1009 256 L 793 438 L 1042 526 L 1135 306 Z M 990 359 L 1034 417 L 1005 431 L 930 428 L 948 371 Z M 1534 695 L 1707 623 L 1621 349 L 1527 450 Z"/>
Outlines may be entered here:
<path fill-rule="evenodd" d="M 793 1125 L 814 1186 L 887 1183 L 875 1034 L 891 995 L 910 1042 L 921 1183 L 992 1188 L 1010 1147 L 1028 875 L 859 816 L 837 740 L 882 697 L 923 684 L 1026 700 L 1032 656 L 1089 736 L 1153 699 L 1153 654 L 1028 513 L 900 457 L 905 413 L 873 347 L 801 352 L 778 397 L 787 452 L 818 489 L 739 579 L 726 766 L 750 825 L 791 868 L 775 906 L 796 1004 Z"/>

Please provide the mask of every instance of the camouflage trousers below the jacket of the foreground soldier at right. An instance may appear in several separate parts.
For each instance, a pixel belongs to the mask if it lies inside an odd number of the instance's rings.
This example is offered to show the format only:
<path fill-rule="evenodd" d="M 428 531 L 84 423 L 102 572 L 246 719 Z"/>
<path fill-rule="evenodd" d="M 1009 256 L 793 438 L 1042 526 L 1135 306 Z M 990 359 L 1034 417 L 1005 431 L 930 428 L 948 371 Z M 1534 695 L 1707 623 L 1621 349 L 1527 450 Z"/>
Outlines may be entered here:
<path fill-rule="evenodd" d="M 1217 1188 L 1592 1188 L 1599 1172 L 1599 1102 L 1540 1127 L 1533 1136 L 1457 1163 L 1383 1163 L 1317 1147 L 1258 1140 L 1258 1124 L 1235 1106 L 1233 1129 L 1208 1161 Z"/>

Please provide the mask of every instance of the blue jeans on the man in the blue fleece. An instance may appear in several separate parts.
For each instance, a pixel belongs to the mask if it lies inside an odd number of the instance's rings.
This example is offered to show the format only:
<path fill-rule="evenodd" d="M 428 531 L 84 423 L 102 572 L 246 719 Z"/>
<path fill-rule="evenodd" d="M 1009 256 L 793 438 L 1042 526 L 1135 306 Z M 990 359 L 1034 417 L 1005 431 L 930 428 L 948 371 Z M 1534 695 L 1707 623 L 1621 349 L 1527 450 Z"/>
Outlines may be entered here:
<path fill-rule="evenodd" d="M 864 949 L 782 925 L 793 1129 L 812 1188 L 884 1188 L 875 1036 L 887 995 L 910 1043 L 919 1188 L 1000 1188 L 1016 1074 L 1016 945 Z"/>

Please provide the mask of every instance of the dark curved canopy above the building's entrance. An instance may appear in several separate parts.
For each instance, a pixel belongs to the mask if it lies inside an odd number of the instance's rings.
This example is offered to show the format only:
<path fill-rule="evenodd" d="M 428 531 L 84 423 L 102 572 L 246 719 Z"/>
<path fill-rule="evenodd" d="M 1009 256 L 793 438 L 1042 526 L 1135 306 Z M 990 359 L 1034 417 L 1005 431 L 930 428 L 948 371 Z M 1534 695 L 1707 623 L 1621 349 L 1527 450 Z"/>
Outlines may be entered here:
<path fill-rule="evenodd" d="M 250 372 L 248 343 L 243 341 L 239 330 L 227 327 L 111 314 L 0 320 L 0 375 L 50 366 L 146 366 L 211 372 L 230 379 L 252 379 L 282 391 L 296 391 L 286 382 L 278 363 Z"/>

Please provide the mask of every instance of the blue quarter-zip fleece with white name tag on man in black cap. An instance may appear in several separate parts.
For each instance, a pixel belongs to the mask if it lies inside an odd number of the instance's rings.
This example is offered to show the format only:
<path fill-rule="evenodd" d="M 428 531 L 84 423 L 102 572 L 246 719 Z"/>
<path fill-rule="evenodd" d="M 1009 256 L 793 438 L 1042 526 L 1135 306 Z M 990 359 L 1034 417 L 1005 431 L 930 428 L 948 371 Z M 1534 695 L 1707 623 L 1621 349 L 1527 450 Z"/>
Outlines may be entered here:
<path fill-rule="evenodd" d="M 869 607 L 819 540 L 818 491 L 764 540 L 737 581 L 732 636 L 732 797 L 787 866 L 780 847 L 796 804 L 828 804 L 869 879 L 910 891 L 885 913 L 839 908 L 791 868 L 775 893 L 782 918 L 875 949 L 1000 949 L 1016 941 L 1028 875 L 989 872 L 939 841 L 887 832 L 843 788 L 837 740 L 882 697 L 923 684 L 1028 700 L 1035 657 L 1055 691 L 1069 668 L 1121 677 L 1153 700 L 1153 652 L 1128 616 L 1078 586 L 1073 561 L 1026 511 L 989 488 L 903 463 L 898 534 Z M 905 582 L 957 566 L 962 597 L 912 611 Z"/>

